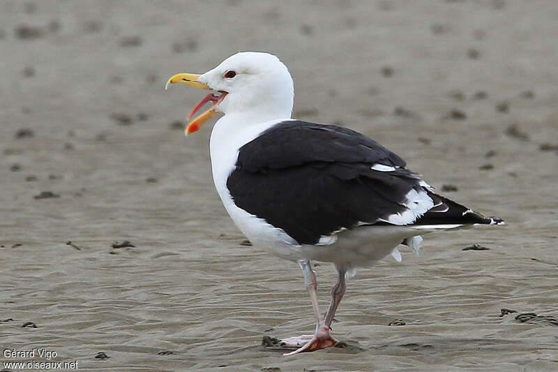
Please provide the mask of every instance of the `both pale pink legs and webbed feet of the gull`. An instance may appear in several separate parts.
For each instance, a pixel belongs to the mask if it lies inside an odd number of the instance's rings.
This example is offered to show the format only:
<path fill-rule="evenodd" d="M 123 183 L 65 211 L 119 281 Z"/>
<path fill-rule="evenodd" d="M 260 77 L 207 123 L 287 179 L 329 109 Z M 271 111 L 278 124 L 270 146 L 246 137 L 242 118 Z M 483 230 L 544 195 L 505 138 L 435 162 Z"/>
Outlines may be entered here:
<path fill-rule="evenodd" d="M 287 338 L 286 340 L 283 340 L 283 342 L 285 342 L 285 346 L 287 345 L 299 346 L 301 345 L 301 343 L 304 342 L 304 345 L 301 348 L 285 354 L 287 356 L 298 354 L 299 352 L 311 352 L 319 349 L 331 348 L 331 346 L 337 343 L 337 341 L 335 341 L 335 339 L 333 339 L 330 336 L 329 330 L 331 329 L 331 322 L 333 321 L 333 316 L 335 315 L 335 311 L 337 310 L 339 303 L 341 302 L 341 299 L 345 294 L 345 270 L 338 269 L 338 273 L 339 273 L 338 282 L 331 290 L 331 304 L 329 305 L 329 310 L 327 312 L 325 321 L 322 321 L 322 318 L 319 315 L 319 308 L 317 304 L 317 297 L 316 297 L 317 285 L 316 285 L 316 278 L 314 275 L 314 271 L 312 271 L 312 267 L 310 267 L 310 262 L 308 261 L 303 263 L 299 262 L 299 265 L 301 265 L 303 269 L 305 281 L 307 278 L 307 274 L 305 273 L 305 270 L 308 269 L 312 273 L 312 274 L 308 274 L 308 277 L 310 278 L 310 283 L 312 283 L 312 278 L 313 278 L 313 285 L 308 285 L 307 283 L 307 288 L 308 291 L 310 292 L 310 297 L 312 298 L 312 306 L 314 307 L 314 315 L 316 317 L 316 323 L 317 323 L 316 332 L 314 336 L 311 336 L 310 338 L 308 338 L 308 335 L 304 335 L 301 337 Z"/>

